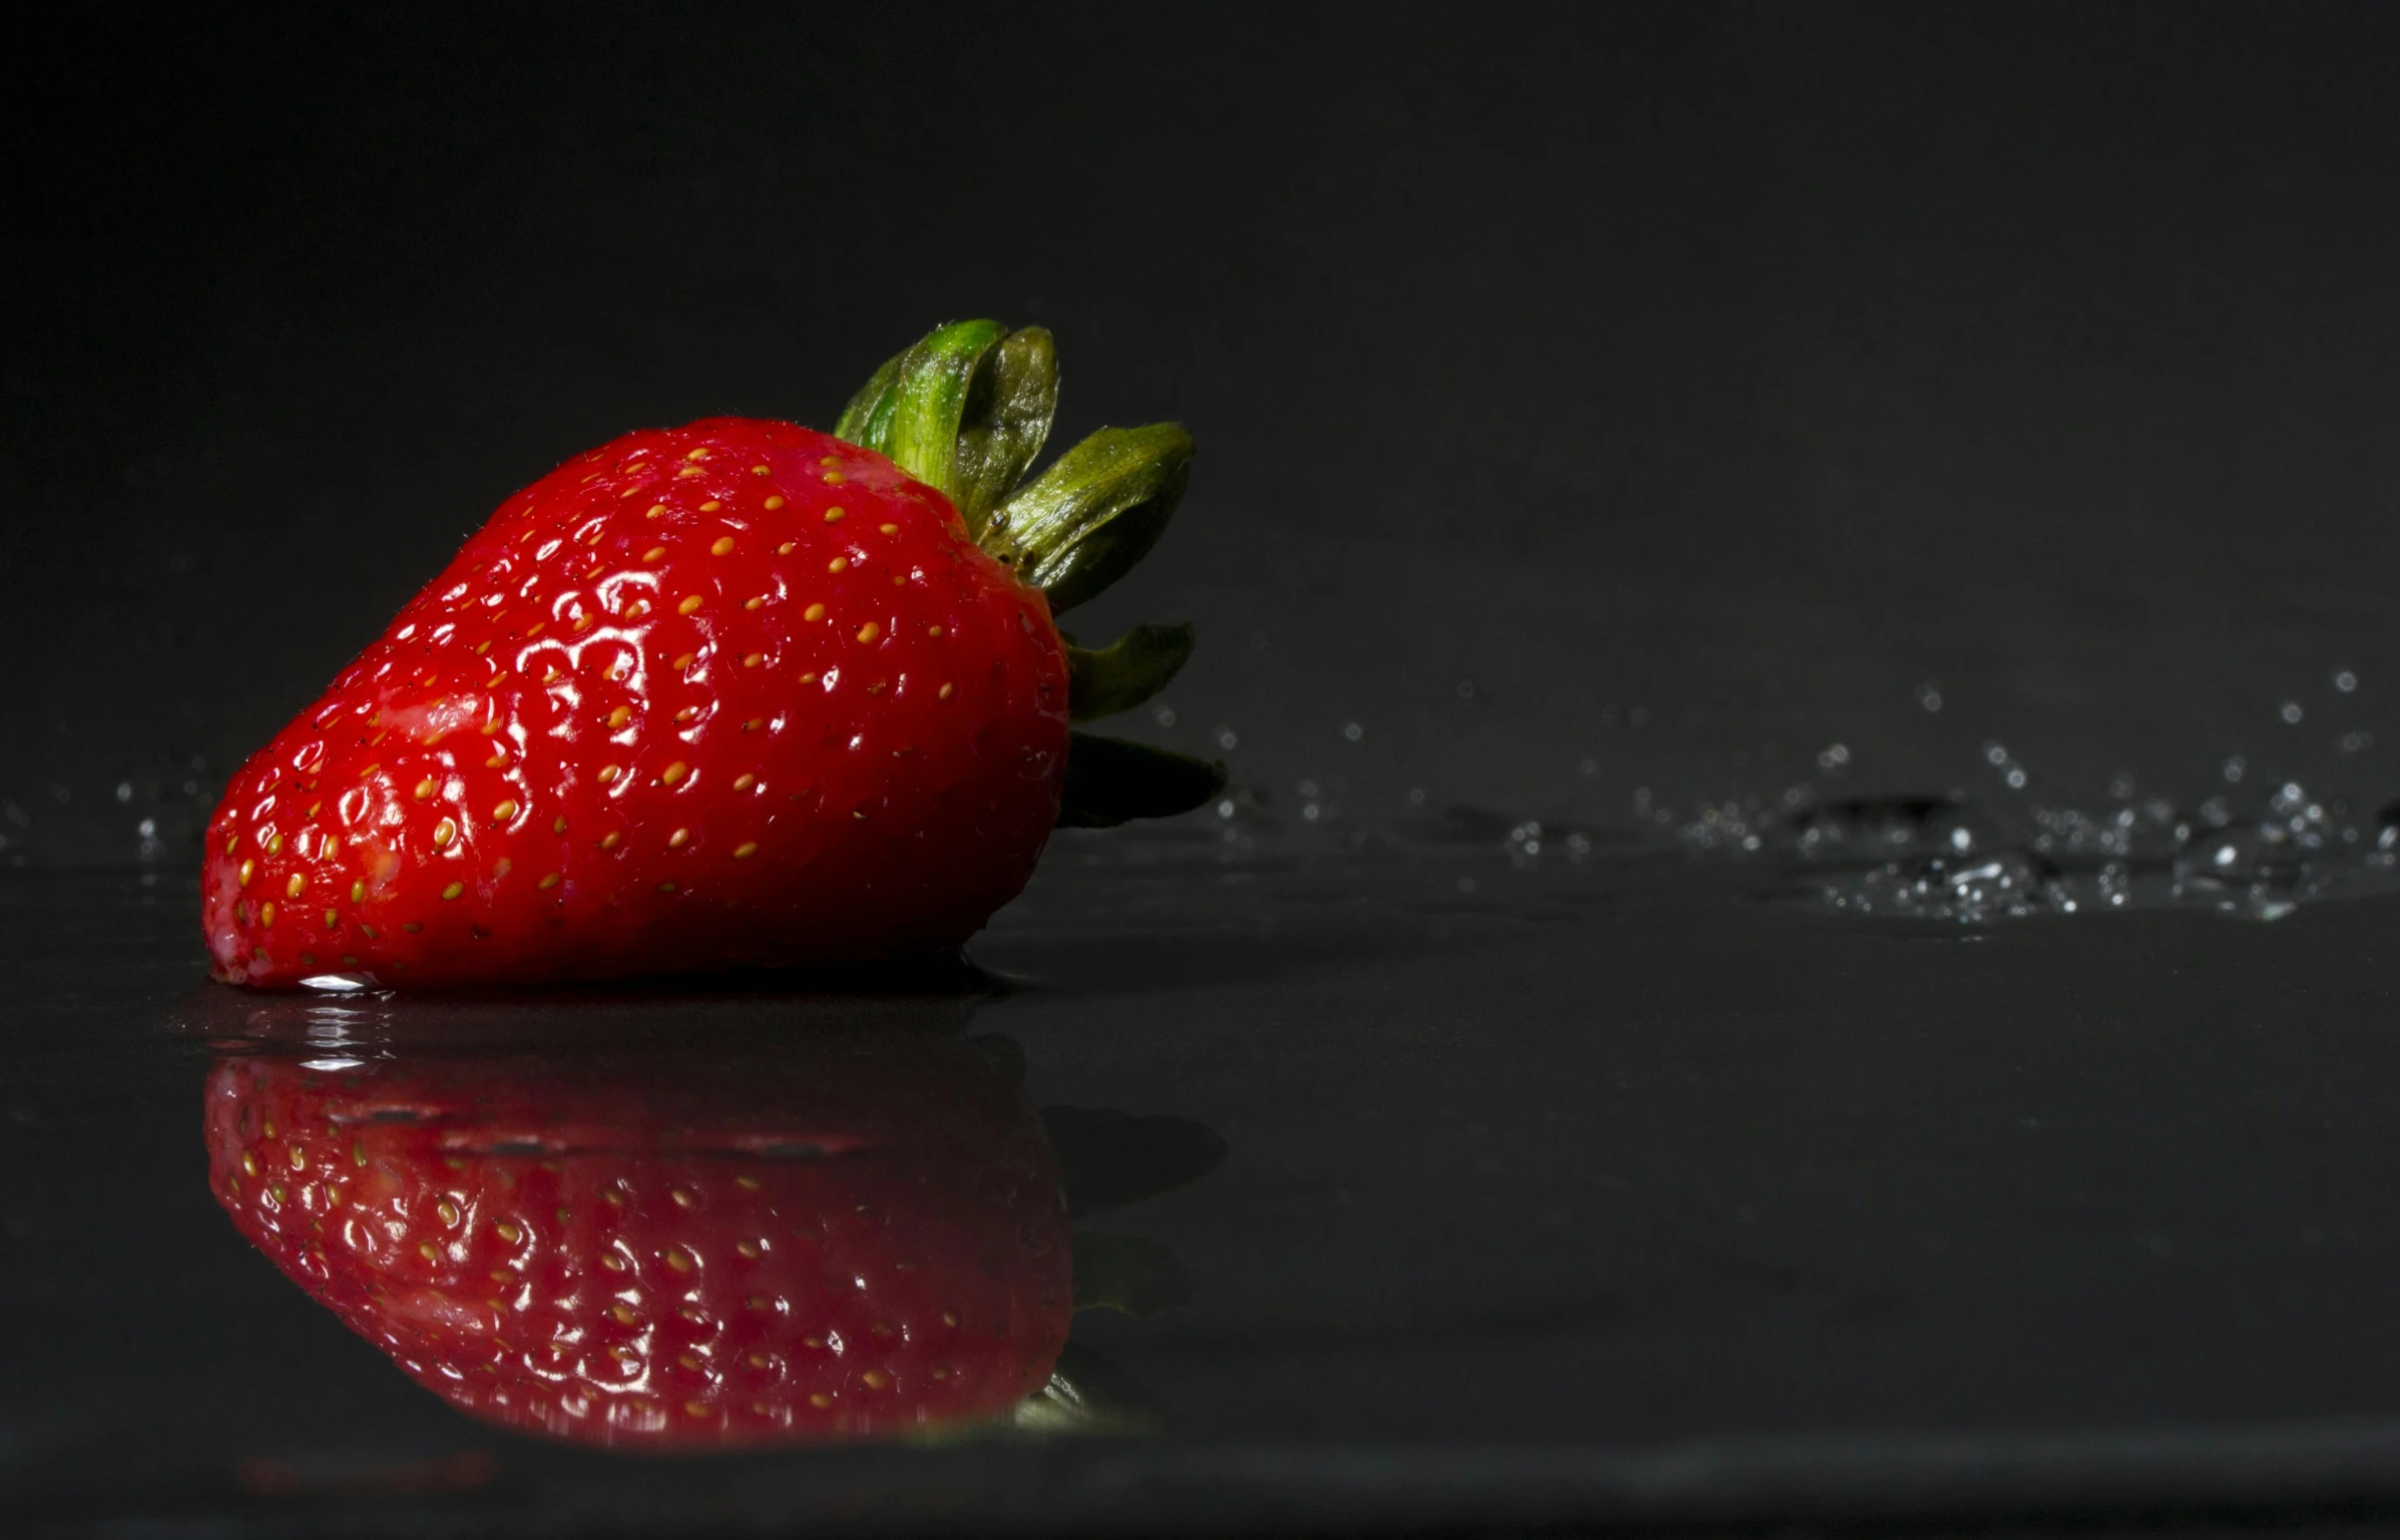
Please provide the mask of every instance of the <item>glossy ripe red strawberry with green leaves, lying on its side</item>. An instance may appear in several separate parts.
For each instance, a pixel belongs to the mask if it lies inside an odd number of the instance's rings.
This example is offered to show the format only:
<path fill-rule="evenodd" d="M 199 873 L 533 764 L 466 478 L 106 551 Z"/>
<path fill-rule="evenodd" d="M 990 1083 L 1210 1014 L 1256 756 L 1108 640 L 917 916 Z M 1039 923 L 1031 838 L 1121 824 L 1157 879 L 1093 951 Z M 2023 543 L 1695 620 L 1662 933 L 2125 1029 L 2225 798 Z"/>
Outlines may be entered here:
<path fill-rule="evenodd" d="M 1157 540 L 1181 427 L 1018 487 L 1039 329 L 941 326 L 835 434 L 626 434 L 499 506 L 233 777 L 206 835 L 218 979 L 456 986 L 955 950 L 1061 823 L 1198 806 L 1222 768 L 1070 732 L 1190 655 L 1054 614 Z M 329 979 L 331 981 L 331 979 Z"/>

